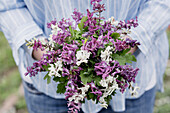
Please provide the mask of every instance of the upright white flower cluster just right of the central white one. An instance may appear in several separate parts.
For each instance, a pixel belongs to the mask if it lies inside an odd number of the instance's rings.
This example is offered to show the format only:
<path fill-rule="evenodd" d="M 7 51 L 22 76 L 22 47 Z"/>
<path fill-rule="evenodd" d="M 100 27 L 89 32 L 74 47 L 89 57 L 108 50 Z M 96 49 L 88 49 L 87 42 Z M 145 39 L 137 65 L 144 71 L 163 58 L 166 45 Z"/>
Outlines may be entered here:
<path fill-rule="evenodd" d="M 113 47 L 108 46 L 105 51 L 101 51 L 101 60 L 105 61 L 107 64 L 112 61 L 110 55 L 112 54 Z"/>

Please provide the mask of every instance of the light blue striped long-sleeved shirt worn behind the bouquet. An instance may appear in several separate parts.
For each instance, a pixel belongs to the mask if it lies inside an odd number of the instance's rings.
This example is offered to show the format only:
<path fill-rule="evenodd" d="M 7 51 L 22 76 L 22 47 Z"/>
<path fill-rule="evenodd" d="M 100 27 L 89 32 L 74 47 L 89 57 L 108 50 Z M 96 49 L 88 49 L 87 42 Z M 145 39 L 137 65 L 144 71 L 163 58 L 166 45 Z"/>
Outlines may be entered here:
<path fill-rule="evenodd" d="M 136 83 L 140 87 L 137 97 L 140 97 L 153 78 L 156 78 L 157 89 L 163 90 L 163 73 L 168 59 L 168 40 L 165 30 L 170 23 L 170 0 L 103 0 L 106 11 L 103 16 L 108 19 L 114 16 L 116 20 L 129 20 L 138 17 L 139 26 L 132 29 L 130 37 L 138 40 L 141 45 L 134 53 L 137 62 L 133 67 L 140 71 Z M 48 37 L 50 29 L 47 22 L 54 18 L 70 18 L 74 8 L 86 13 L 92 9 L 90 0 L 0 0 L 0 30 L 5 34 L 13 51 L 13 57 L 21 77 L 26 67 L 34 60 L 24 48 L 25 40 L 33 37 Z M 43 80 L 46 73 L 39 73 L 35 77 L 26 77 L 41 92 L 54 97 L 64 98 L 56 93 L 57 83 L 47 84 Z M 125 98 L 131 97 L 127 90 L 124 94 L 118 92 L 110 102 L 115 111 L 125 110 Z M 87 113 L 98 112 L 101 107 L 91 101 L 82 105 Z"/>

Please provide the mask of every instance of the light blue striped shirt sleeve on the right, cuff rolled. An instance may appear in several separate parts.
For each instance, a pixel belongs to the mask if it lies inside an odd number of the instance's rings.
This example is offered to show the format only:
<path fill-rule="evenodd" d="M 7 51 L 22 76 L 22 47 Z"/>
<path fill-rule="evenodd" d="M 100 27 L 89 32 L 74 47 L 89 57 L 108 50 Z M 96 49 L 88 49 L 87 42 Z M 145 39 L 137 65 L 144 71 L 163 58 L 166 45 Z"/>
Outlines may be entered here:
<path fill-rule="evenodd" d="M 129 36 L 141 43 L 139 49 L 146 55 L 157 35 L 170 23 L 170 0 L 148 0 L 140 8 L 138 23 L 139 26 L 133 28 Z"/>

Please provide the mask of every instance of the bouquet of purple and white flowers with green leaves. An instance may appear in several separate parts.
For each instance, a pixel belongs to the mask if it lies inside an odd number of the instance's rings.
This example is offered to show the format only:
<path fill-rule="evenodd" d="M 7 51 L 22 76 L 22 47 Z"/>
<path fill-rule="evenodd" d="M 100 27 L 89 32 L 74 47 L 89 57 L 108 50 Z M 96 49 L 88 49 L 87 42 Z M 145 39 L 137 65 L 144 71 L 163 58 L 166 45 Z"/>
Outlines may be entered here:
<path fill-rule="evenodd" d="M 138 68 L 128 65 L 136 61 L 130 49 L 140 45 L 136 40 L 124 39 L 136 20 L 105 20 L 101 0 L 91 0 L 93 11 L 87 15 L 74 9 L 71 19 L 51 21 L 47 27 L 51 35 L 47 41 L 27 41 L 33 49 L 46 50 L 40 61 L 27 68 L 26 75 L 35 76 L 47 71 L 44 79 L 58 82 L 57 93 L 65 95 L 70 112 L 78 112 L 85 98 L 107 108 L 116 90 L 132 89 Z"/>

